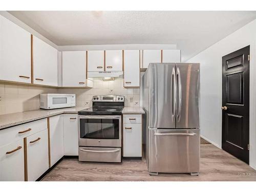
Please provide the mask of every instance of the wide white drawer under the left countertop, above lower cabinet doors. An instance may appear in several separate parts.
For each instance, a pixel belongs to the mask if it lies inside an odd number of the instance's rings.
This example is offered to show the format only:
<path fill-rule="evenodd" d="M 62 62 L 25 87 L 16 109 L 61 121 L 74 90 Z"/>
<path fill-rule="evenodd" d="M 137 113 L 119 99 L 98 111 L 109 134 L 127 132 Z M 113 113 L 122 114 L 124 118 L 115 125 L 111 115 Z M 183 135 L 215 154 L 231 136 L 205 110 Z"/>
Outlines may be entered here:
<path fill-rule="evenodd" d="M 47 119 L 41 119 L 0 131 L 0 146 L 28 137 L 47 129 Z"/>

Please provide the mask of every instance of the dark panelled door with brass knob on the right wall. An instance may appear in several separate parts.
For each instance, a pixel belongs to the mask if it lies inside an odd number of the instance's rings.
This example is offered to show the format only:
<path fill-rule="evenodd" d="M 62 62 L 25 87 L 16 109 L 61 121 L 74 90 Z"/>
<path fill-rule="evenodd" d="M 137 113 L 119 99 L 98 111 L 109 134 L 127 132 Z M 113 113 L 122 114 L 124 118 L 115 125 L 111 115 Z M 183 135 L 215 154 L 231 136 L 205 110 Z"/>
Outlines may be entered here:
<path fill-rule="evenodd" d="M 222 57 L 222 148 L 249 163 L 250 46 Z"/>

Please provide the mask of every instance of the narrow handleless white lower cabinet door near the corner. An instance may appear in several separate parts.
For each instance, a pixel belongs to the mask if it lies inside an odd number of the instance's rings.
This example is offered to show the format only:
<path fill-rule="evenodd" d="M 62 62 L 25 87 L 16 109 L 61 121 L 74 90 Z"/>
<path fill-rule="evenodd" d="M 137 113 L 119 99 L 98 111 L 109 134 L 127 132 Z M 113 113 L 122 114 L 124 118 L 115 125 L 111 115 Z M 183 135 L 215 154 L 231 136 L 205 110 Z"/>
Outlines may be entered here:
<path fill-rule="evenodd" d="M 51 166 L 53 166 L 64 155 L 63 115 L 50 117 L 49 121 Z"/>

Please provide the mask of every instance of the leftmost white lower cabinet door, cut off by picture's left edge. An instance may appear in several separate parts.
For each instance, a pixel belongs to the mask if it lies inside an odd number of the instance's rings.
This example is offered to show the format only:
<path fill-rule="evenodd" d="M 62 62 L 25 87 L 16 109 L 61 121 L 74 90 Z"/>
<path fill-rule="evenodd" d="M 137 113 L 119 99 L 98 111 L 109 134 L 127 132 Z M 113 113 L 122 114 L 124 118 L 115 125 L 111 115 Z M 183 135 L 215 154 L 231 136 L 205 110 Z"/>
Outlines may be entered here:
<path fill-rule="evenodd" d="M 24 181 L 23 139 L 0 147 L 0 181 Z"/>

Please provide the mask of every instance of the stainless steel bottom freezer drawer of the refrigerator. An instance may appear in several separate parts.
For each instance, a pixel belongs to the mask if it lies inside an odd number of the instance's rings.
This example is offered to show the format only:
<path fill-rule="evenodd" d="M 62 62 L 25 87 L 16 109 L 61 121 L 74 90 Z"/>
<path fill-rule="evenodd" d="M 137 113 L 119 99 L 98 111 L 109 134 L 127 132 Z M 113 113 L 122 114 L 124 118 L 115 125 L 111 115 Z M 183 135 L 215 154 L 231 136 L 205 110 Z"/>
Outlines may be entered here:
<path fill-rule="evenodd" d="M 200 130 L 149 129 L 149 172 L 198 173 Z"/>

